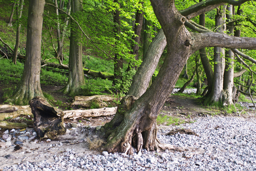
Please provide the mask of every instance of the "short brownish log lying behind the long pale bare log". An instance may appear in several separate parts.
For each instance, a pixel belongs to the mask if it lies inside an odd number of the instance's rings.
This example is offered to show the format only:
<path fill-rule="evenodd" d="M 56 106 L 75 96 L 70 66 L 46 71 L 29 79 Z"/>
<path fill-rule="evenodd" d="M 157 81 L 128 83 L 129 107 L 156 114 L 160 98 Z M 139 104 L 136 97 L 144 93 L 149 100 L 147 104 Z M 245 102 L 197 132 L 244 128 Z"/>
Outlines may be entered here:
<path fill-rule="evenodd" d="M 107 107 L 107 103 L 104 101 L 113 101 L 111 95 L 94 95 L 94 96 L 75 96 L 73 102 L 70 104 L 71 107 L 90 108 L 92 104 L 98 106 L 98 108 Z"/>

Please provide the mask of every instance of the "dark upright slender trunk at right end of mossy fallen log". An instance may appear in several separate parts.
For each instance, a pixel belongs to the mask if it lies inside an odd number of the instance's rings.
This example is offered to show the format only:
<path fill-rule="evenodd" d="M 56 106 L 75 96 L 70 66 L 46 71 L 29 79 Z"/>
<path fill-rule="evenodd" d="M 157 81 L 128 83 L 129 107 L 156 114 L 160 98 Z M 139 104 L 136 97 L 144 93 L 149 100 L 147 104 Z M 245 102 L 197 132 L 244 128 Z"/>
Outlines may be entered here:
<path fill-rule="evenodd" d="M 118 3 L 118 0 L 114 0 L 115 3 Z M 116 35 L 116 41 L 119 40 L 118 34 L 121 32 L 121 18 L 120 18 L 120 11 L 116 9 L 114 12 L 114 33 Z M 117 50 L 116 50 L 117 51 Z M 115 79 L 122 79 L 121 70 L 123 70 L 123 62 L 122 57 L 115 52 L 115 61 L 114 61 L 114 77 Z M 116 81 L 113 81 L 113 85 L 116 85 Z"/>

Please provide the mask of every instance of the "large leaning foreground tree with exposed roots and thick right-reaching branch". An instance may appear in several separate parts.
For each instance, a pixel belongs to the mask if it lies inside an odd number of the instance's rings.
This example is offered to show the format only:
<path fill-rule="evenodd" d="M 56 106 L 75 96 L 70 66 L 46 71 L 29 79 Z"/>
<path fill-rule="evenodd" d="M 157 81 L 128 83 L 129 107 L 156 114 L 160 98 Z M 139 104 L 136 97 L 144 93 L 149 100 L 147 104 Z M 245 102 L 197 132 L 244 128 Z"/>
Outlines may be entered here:
<path fill-rule="evenodd" d="M 142 148 L 165 148 L 157 140 L 156 118 L 172 92 L 188 57 L 196 50 L 204 47 L 256 48 L 256 38 L 234 38 L 223 33 L 211 32 L 194 33 L 186 29 L 186 19 L 223 5 L 218 0 L 197 3 L 180 12 L 176 9 L 174 0 L 151 0 L 151 3 L 166 36 L 167 56 L 153 84 L 130 108 L 123 108 L 123 120 L 119 120 L 116 125 L 113 124 L 117 127 L 108 131 L 108 142 L 103 147 L 103 150 L 108 152 L 131 154 L 132 145 L 136 147 L 138 154 L 141 154 Z M 235 4 L 236 1 L 230 3 Z M 131 103 L 132 100 L 134 98 L 131 99 Z"/>

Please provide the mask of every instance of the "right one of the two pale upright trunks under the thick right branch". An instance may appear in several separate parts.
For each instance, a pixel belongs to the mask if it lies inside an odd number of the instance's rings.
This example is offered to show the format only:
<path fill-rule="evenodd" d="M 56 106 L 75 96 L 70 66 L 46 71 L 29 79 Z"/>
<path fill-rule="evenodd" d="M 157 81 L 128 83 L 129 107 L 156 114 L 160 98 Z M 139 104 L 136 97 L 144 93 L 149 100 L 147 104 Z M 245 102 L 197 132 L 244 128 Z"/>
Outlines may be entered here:
<path fill-rule="evenodd" d="M 233 5 L 227 6 L 227 11 L 229 12 L 226 14 L 227 16 L 227 31 L 228 34 L 234 34 L 234 22 L 231 22 L 233 16 Z M 224 106 L 232 105 L 233 104 L 233 97 L 232 97 L 232 90 L 233 90 L 233 83 L 234 83 L 234 53 L 228 49 L 226 51 L 226 65 L 225 71 L 223 76 L 223 91 L 225 93 L 224 98 L 222 99 L 222 103 Z"/>

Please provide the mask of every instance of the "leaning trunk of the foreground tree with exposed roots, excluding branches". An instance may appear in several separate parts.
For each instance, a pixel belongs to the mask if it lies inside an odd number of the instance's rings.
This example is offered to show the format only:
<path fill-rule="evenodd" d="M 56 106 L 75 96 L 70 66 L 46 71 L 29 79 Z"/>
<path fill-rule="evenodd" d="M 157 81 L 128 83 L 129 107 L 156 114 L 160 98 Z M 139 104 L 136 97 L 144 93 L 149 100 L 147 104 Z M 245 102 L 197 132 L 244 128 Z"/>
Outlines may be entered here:
<path fill-rule="evenodd" d="M 152 5 L 155 10 L 156 6 L 159 4 L 152 3 Z M 171 5 L 171 7 L 169 5 Z M 169 7 L 175 9 L 174 2 L 161 6 L 161 8 Z M 159 15 L 161 11 L 162 10 L 156 10 L 155 13 Z M 103 147 L 103 150 L 132 154 L 131 145 L 133 144 L 140 155 L 142 148 L 146 150 L 164 148 L 163 145 L 159 144 L 156 138 L 156 118 L 165 100 L 174 88 L 183 66 L 191 55 L 190 46 L 184 46 L 184 42 L 187 36 L 189 36 L 189 32 L 184 26 L 186 19 L 176 10 L 173 11 L 172 15 L 173 17 L 167 18 L 167 22 L 165 22 L 165 17 L 164 20 L 158 18 L 160 24 L 165 26 L 163 27 L 165 35 L 168 35 L 168 52 L 156 80 L 149 89 L 134 102 L 127 112 L 124 111 L 123 121 L 108 136 L 108 143 Z M 167 25 L 168 27 L 166 27 Z M 177 61 L 179 61 L 179 63 Z"/>

